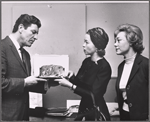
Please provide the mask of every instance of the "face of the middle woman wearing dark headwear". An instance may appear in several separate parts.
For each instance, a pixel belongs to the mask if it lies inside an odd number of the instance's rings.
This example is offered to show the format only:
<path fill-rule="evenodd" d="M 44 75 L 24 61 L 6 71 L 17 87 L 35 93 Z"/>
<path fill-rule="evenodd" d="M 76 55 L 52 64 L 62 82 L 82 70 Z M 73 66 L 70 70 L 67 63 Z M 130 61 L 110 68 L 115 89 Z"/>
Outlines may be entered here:
<path fill-rule="evenodd" d="M 96 52 L 97 48 L 91 41 L 90 35 L 86 34 L 83 43 L 83 51 L 85 55 L 93 55 Z"/>

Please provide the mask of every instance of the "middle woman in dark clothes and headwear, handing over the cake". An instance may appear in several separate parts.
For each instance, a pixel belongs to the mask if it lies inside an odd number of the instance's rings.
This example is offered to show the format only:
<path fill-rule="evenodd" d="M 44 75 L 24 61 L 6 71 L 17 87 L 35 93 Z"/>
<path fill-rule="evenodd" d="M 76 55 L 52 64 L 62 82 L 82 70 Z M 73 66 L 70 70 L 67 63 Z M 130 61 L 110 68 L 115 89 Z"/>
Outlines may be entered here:
<path fill-rule="evenodd" d="M 111 67 L 104 58 L 108 40 L 108 35 L 102 28 L 97 27 L 88 30 L 85 34 L 83 50 L 85 55 L 90 57 L 83 61 L 76 76 L 69 72 L 68 80 L 62 78 L 55 81 L 58 81 L 64 87 L 72 89 L 75 94 L 81 96 L 78 114 L 93 107 L 89 95 L 90 91 L 94 94 L 96 105 L 99 106 L 106 119 L 110 120 L 108 108 L 103 97 L 111 78 Z M 81 121 L 83 119 L 77 118 L 75 120 Z M 85 120 L 94 120 L 94 115 L 85 117 Z"/>

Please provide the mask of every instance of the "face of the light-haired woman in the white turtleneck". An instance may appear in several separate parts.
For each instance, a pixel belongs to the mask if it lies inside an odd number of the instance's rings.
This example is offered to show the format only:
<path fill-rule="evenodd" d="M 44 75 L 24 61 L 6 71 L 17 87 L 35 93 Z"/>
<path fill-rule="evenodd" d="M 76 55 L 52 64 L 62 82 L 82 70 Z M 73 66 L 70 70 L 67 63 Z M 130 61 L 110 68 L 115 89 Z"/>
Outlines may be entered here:
<path fill-rule="evenodd" d="M 120 32 L 115 38 L 114 46 L 116 48 L 117 55 L 126 55 L 130 49 L 130 43 L 126 39 L 126 33 Z"/>

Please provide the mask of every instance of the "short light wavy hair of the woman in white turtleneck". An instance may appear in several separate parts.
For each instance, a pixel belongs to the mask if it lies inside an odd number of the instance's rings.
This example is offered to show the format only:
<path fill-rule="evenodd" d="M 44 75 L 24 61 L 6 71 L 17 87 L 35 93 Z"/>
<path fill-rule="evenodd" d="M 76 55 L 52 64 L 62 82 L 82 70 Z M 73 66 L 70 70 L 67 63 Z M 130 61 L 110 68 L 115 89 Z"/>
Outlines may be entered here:
<path fill-rule="evenodd" d="M 143 33 L 139 27 L 131 24 L 122 24 L 115 30 L 114 37 L 116 38 L 120 32 L 126 33 L 126 39 L 132 44 L 135 52 L 138 54 L 143 52 Z"/>

